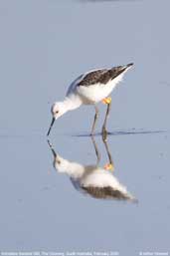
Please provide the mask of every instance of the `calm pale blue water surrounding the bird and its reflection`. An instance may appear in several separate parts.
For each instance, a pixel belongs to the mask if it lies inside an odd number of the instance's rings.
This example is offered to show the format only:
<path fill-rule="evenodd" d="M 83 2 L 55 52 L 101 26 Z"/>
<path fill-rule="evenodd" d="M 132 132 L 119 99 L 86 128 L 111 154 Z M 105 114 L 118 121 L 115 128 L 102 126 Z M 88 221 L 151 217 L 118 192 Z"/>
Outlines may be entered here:
<path fill-rule="evenodd" d="M 170 253 L 169 8 L 169 0 L 0 1 L 1 251 Z M 80 193 L 55 170 L 46 138 L 50 106 L 72 80 L 128 62 L 135 67 L 112 94 L 108 147 L 113 174 L 138 203 Z M 92 119 L 86 107 L 55 124 L 50 140 L 63 158 L 96 163 L 84 135 Z"/>

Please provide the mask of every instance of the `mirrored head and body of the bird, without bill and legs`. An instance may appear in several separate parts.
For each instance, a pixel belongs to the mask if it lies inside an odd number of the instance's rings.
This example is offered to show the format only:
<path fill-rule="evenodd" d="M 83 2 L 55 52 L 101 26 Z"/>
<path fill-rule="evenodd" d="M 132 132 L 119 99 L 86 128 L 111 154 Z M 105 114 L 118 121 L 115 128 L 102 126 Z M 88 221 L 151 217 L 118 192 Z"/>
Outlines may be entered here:
<path fill-rule="evenodd" d="M 59 154 L 54 159 L 54 166 L 60 173 L 68 174 L 79 191 L 87 193 L 92 197 L 135 201 L 134 196 L 127 191 L 126 187 L 109 170 L 96 165 L 83 165 L 78 162 L 69 161 Z M 114 196 L 104 192 L 104 188 L 107 187 L 114 191 L 112 193 L 115 194 Z M 92 194 L 89 192 L 90 190 L 93 191 Z M 117 198 L 116 194 L 118 194 Z"/>

